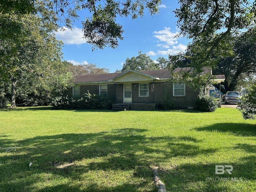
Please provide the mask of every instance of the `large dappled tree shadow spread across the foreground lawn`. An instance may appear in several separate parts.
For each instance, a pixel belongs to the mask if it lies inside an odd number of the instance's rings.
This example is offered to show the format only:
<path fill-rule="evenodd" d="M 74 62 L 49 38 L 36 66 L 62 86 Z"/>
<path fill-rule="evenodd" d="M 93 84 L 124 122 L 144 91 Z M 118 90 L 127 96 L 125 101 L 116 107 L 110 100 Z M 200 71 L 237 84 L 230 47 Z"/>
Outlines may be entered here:
<path fill-rule="evenodd" d="M 12 192 L 154 192 L 152 166 L 171 158 L 192 158 L 201 154 L 210 156 L 212 152 L 218 152 L 218 148 L 203 150 L 199 147 L 201 141 L 190 136 L 146 137 L 143 135 L 146 131 L 126 128 L 90 134 L 38 136 L 20 141 L 8 140 L 0 135 L 2 146 L 8 147 L 14 143 L 20 146 L 10 153 L 0 151 L 0 188 Z M 254 150 L 247 145 L 237 147 Z M 29 162 L 33 163 L 31 167 L 28 166 Z M 233 177 L 255 179 L 255 156 L 241 158 L 240 164 L 232 166 Z M 120 172 L 121 175 L 115 176 Z M 119 178 L 128 172 L 130 180 Z M 160 170 L 159 176 L 170 191 L 210 192 L 228 189 L 225 185 L 206 182 L 206 177 L 216 176 L 215 164 L 181 164 L 169 170 Z M 200 184 L 193 186 L 195 182 Z"/>

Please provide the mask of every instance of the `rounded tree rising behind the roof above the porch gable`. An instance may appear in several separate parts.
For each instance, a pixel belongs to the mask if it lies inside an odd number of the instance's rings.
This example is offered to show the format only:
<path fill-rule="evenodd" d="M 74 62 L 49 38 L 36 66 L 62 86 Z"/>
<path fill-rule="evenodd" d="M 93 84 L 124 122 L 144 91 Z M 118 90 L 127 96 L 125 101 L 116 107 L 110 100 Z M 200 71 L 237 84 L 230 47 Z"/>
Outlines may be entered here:
<path fill-rule="evenodd" d="M 160 67 L 150 58 L 150 56 L 142 54 L 141 51 L 139 51 L 138 56 L 127 58 L 123 68 L 121 70 L 116 70 L 116 72 L 125 72 L 130 69 L 136 71 L 144 71 L 160 69 Z"/>

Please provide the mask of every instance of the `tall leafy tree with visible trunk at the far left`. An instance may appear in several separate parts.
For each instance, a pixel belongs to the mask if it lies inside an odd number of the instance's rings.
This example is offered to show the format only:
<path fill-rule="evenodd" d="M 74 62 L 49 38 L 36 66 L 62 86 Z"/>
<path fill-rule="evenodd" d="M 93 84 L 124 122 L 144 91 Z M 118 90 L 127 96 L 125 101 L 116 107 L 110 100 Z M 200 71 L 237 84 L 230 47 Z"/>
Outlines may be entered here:
<path fill-rule="evenodd" d="M 56 40 L 53 33 L 57 27 L 55 20 L 52 20 L 55 15 L 45 8 L 43 2 L 38 2 L 30 14 L 12 12 L 0 14 L 0 17 L 11 20 L 10 23 L 18 20 L 22 28 L 22 33 L 18 33 L 17 36 L 3 38 L 0 49 L 1 78 L 12 84 L 11 107 L 15 107 L 17 90 L 20 93 L 36 91 L 35 84 L 46 89 L 56 80 L 58 83 L 55 83 L 55 86 L 61 84 L 63 80 L 59 76 L 64 75 L 64 65 L 61 62 L 62 43 Z M 4 30 L 1 28 L 0 34 L 4 33 Z M 22 89 L 25 86 L 26 89 Z M 30 89 L 27 89 L 28 87 Z M 62 88 L 52 88 L 52 94 Z"/>

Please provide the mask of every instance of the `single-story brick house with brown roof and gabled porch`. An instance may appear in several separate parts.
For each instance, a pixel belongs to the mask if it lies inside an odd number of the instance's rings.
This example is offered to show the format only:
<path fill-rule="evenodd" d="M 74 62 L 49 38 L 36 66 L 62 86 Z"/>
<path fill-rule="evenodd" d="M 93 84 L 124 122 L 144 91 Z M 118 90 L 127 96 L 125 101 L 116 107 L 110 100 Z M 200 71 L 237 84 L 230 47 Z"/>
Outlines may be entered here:
<path fill-rule="evenodd" d="M 211 69 L 207 70 L 212 73 Z M 130 110 L 155 109 L 163 106 L 166 100 L 170 100 L 176 109 L 196 108 L 199 92 L 184 82 L 171 84 L 168 82 L 170 76 L 168 69 L 79 75 L 74 77 L 72 95 L 75 97 L 90 92 L 112 96 L 116 105 L 125 104 L 124 108 Z M 224 75 L 215 78 L 218 83 L 225 79 Z"/>

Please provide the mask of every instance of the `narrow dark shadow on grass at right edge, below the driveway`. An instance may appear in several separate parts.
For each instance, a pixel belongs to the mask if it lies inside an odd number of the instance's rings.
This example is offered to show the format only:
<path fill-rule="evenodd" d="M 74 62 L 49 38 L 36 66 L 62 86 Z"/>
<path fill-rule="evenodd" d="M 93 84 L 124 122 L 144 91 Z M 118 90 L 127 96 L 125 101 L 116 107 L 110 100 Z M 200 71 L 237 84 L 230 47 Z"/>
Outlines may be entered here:
<path fill-rule="evenodd" d="M 207 127 L 196 128 L 198 131 L 228 132 L 236 136 L 256 136 L 255 124 L 217 123 Z"/>

